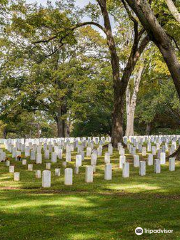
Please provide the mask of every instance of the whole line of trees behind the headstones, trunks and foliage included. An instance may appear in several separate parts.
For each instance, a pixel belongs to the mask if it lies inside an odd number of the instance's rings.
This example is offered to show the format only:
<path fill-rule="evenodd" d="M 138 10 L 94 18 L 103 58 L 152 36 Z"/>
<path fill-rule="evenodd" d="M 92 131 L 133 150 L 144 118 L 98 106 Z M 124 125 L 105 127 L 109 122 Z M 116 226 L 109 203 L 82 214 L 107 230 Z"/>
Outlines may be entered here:
<path fill-rule="evenodd" d="M 130 2 L 102 0 L 80 9 L 74 1 L 46 7 L 1 1 L 4 137 L 111 135 L 117 144 L 125 133 L 179 132 L 176 76 L 145 7 L 177 59 L 179 22 L 166 1 L 140 1 L 144 19 L 138 1 Z"/>

